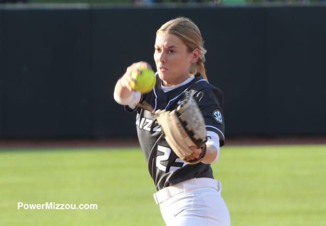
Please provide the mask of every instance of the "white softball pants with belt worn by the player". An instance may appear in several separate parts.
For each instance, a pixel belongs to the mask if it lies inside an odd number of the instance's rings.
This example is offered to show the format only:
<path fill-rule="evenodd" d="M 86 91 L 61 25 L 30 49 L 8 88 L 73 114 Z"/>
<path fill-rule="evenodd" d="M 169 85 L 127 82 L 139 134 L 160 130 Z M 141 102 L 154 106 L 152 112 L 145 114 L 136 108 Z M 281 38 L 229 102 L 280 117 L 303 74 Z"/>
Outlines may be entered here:
<path fill-rule="evenodd" d="M 210 178 L 194 178 L 163 188 L 154 194 L 166 226 L 230 226 L 221 184 Z"/>

